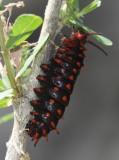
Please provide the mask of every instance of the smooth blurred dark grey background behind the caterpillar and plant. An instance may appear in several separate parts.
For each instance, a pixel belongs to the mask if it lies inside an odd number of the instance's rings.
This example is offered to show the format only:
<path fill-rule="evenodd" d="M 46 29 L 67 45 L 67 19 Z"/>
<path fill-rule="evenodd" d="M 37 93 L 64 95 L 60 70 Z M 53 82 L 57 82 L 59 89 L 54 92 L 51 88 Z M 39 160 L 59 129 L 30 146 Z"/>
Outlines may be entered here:
<path fill-rule="evenodd" d="M 17 0 L 3 0 L 3 5 Z M 24 1 L 23 9 L 14 9 L 11 21 L 22 13 L 44 16 L 47 0 Z M 91 0 L 80 0 L 83 8 Z M 49 141 L 44 138 L 34 148 L 28 138 L 27 152 L 31 160 L 119 160 L 119 0 L 102 0 L 99 9 L 85 16 L 85 24 L 110 38 L 114 45 L 100 45 L 108 56 L 97 48 L 86 45 L 86 69 L 75 85 L 70 107 L 60 120 L 60 135 L 51 132 Z M 38 39 L 39 29 L 30 42 Z M 65 30 L 63 30 L 66 33 Z M 92 39 L 92 38 L 91 38 Z M 95 39 L 92 39 L 97 43 Z M 98 43 L 97 43 L 98 44 Z M 1 109 L 0 116 L 12 109 Z M 4 160 L 6 142 L 13 121 L 0 125 L 0 159 Z"/>

